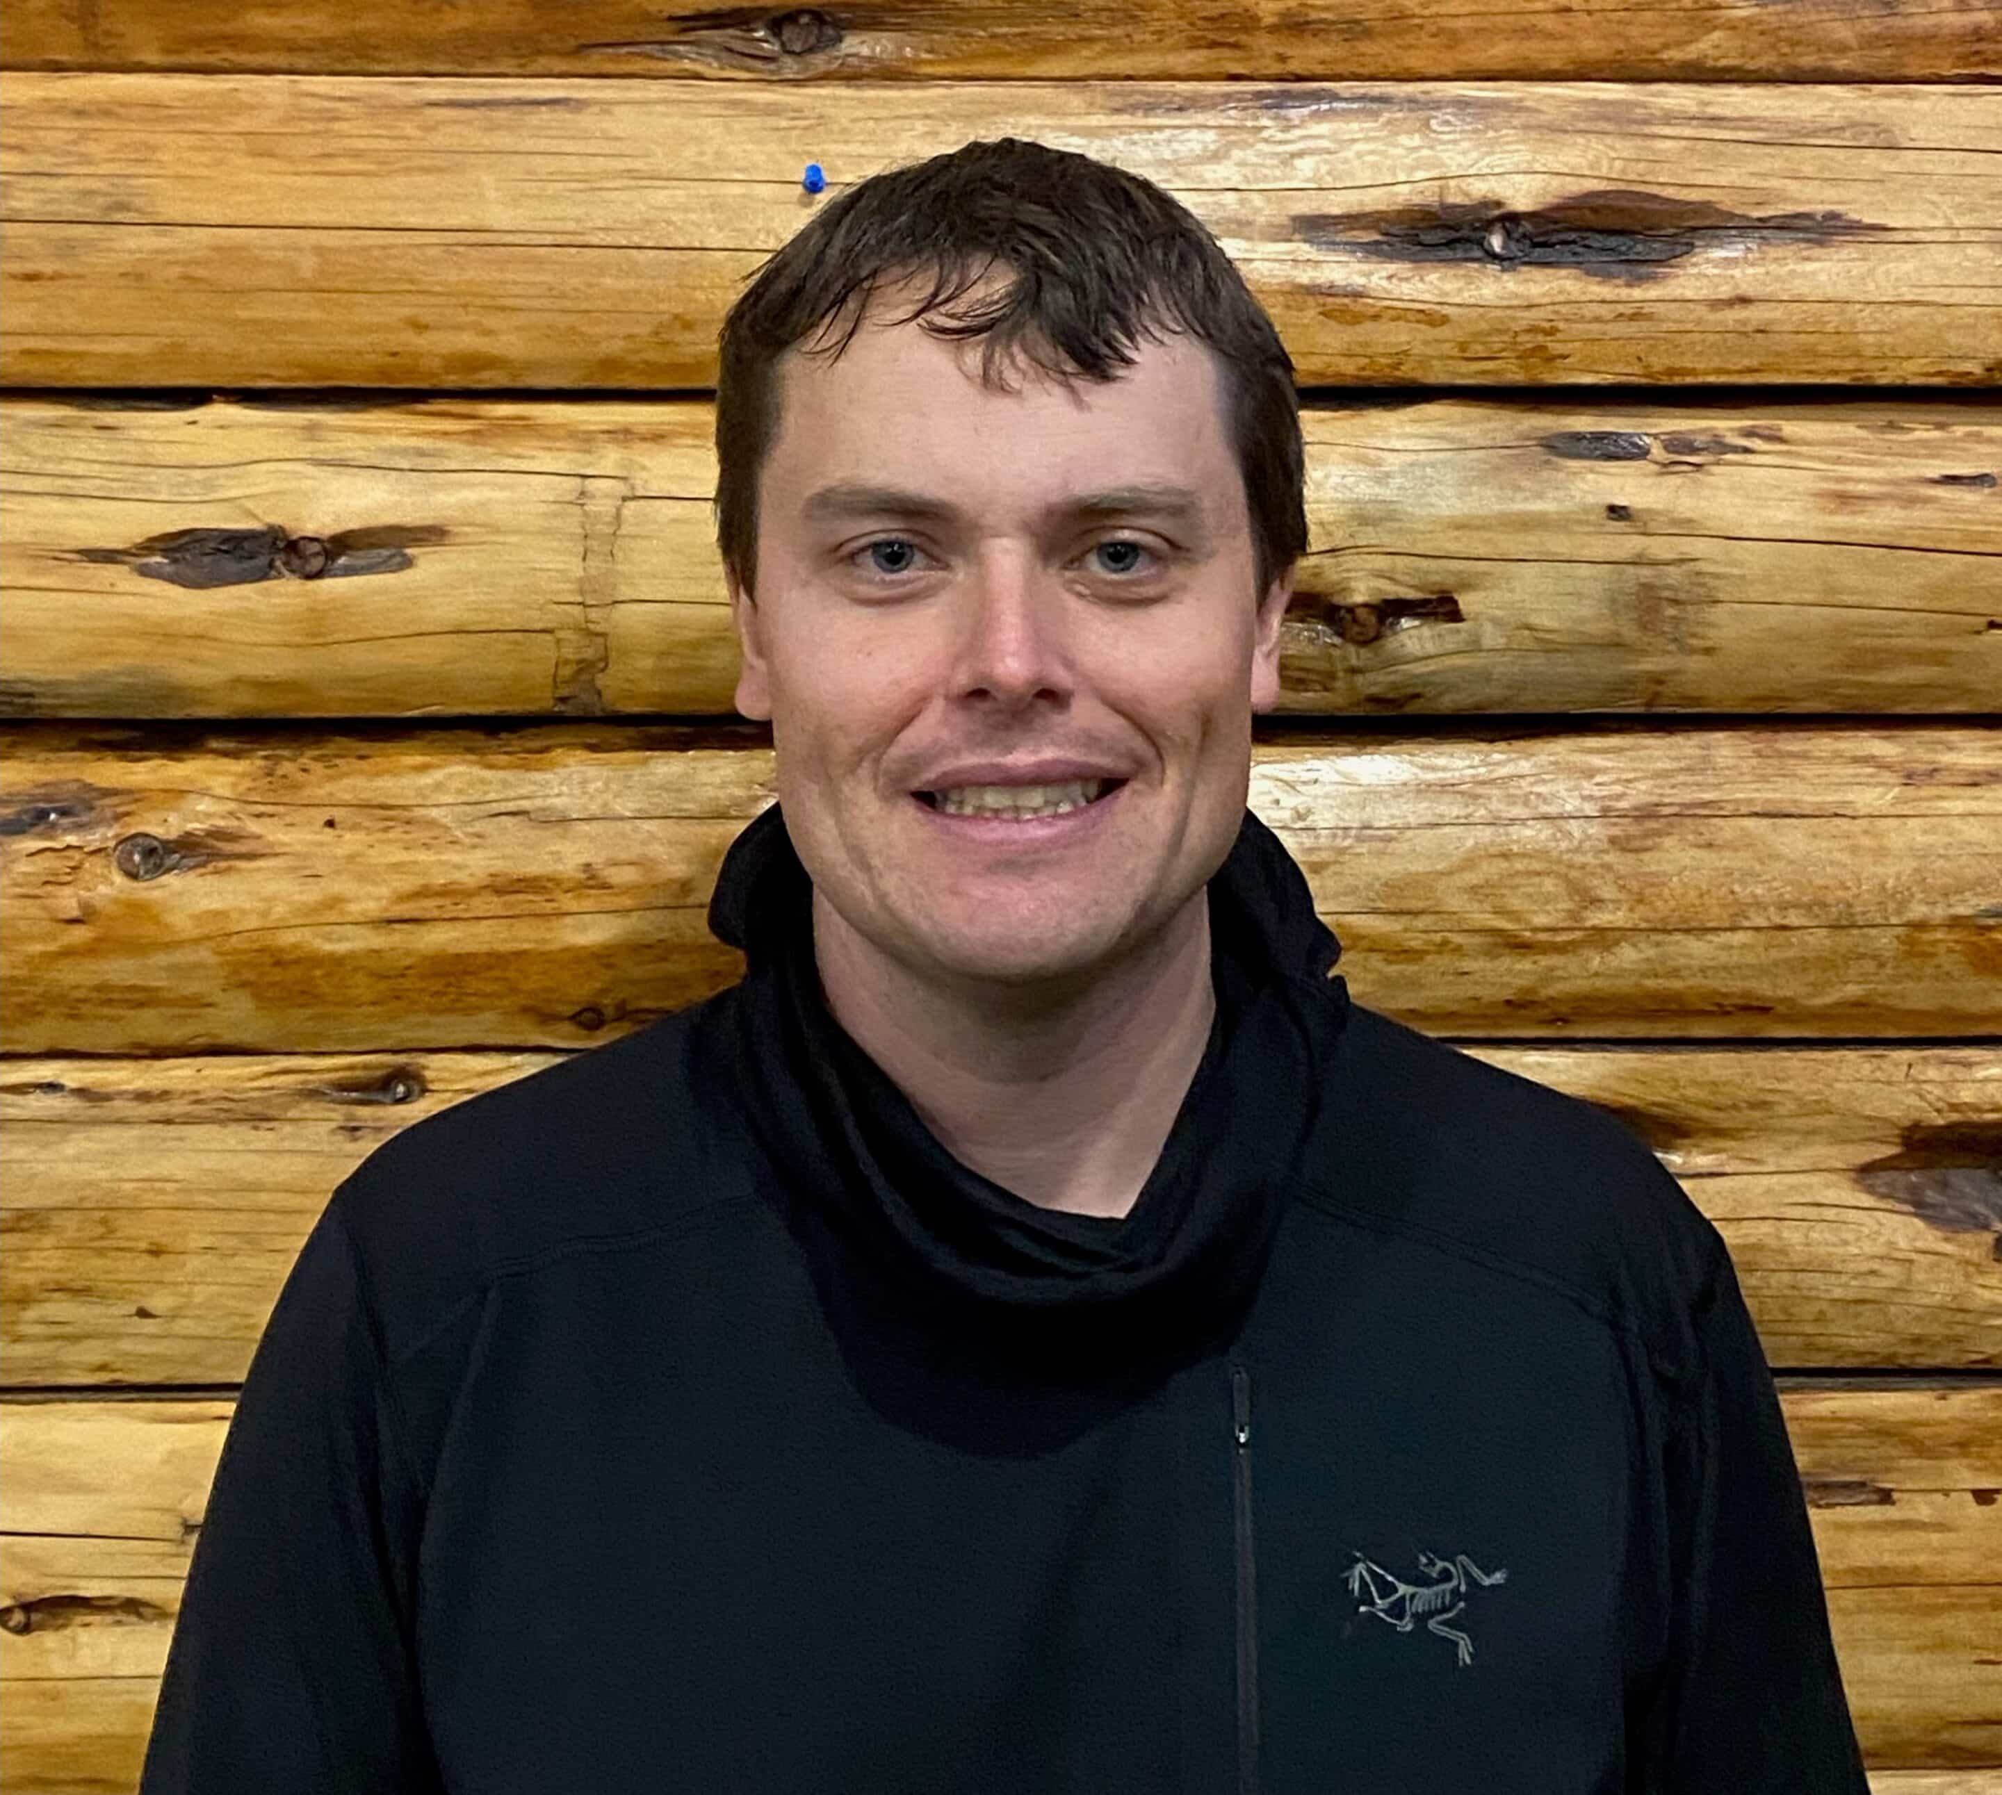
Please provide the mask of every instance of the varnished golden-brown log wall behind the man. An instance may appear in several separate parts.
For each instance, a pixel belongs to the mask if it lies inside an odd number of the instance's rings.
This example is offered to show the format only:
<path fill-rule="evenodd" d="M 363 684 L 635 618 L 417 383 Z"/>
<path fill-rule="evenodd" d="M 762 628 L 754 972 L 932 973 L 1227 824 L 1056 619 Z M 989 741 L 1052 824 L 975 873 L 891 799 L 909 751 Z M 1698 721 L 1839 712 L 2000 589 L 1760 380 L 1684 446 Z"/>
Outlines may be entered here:
<path fill-rule="evenodd" d="M 737 977 L 715 330 L 1015 134 L 1175 192 L 1293 354 L 1251 802 L 1357 1001 L 1718 1223 L 1874 1787 L 1998 1795 L 1994 0 L 474 12 L 0 44 L 8 1789 L 134 1787 L 332 1187 Z"/>

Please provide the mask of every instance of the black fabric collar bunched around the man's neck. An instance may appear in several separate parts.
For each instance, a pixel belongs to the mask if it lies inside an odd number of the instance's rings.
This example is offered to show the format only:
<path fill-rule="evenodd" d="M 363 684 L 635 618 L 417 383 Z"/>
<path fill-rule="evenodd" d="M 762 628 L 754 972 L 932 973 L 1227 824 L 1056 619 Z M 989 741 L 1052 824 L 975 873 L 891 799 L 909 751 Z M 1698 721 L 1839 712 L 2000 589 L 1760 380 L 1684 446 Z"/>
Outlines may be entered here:
<path fill-rule="evenodd" d="M 1209 1047 L 1131 1211 L 1043 1209 L 961 1165 L 839 1025 L 779 806 L 731 844 L 709 927 L 743 949 L 727 1079 L 847 1337 L 1047 1385 L 1151 1379 L 1241 1317 L 1347 1017 L 1305 876 L 1245 810 L 1209 880 Z M 723 1069 L 717 1069 L 723 1071 Z"/>

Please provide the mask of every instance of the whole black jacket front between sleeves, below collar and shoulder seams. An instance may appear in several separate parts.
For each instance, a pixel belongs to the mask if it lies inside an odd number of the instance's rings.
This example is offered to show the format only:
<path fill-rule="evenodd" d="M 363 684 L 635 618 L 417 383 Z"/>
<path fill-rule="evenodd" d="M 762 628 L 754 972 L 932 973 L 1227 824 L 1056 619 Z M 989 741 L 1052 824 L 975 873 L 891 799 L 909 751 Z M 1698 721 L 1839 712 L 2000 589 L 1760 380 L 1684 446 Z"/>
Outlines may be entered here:
<path fill-rule="evenodd" d="M 448 1785 L 1618 1787 L 1616 1355 L 1363 1271 L 1289 1261 L 1235 1353 L 993 1451 L 885 1419 L 771 1287 L 597 1359 L 503 1319 L 424 1573 Z"/>

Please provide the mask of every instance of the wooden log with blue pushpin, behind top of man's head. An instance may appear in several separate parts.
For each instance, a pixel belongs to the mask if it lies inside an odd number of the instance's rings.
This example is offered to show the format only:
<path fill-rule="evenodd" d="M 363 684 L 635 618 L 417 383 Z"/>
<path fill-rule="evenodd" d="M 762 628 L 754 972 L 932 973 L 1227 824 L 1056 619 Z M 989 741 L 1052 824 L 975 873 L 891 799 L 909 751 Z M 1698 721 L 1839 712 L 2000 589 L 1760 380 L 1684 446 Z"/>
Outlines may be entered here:
<path fill-rule="evenodd" d="M 8 384 L 713 386 L 815 204 L 1003 134 L 1183 198 L 1305 384 L 2002 378 L 1992 88 L 4 86 Z"/>

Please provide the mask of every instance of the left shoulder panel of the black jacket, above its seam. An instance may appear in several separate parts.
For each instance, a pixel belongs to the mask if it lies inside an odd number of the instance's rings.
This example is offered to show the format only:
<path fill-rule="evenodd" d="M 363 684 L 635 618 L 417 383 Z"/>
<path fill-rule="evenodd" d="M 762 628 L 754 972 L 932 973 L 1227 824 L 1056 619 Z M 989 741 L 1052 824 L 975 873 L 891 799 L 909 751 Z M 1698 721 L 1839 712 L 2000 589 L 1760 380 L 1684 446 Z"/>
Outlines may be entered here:
<path fill-rule="evenodd" d="M 340 1183 L 328 1207 L 392 1359 L 494 1277 L 673 1231 L 751 1193 L 741 1137 L 707 1115 L 695 1081 L 727 999 L 422 1117 Z"/>

